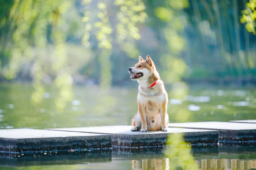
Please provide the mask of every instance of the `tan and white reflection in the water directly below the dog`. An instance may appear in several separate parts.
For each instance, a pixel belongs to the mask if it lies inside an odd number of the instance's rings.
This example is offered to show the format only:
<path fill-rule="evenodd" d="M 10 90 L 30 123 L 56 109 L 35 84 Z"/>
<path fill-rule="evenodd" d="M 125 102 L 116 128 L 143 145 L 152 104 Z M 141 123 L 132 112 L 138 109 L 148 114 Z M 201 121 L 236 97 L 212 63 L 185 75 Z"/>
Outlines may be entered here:
<path fill-rule="evenodd" d="M 169 169 L 169 158 L 164 159 L 142 159 L 142 160 L 132 160 L 132 169 L 134 170 L 150 170 L 150 169 Z"/>

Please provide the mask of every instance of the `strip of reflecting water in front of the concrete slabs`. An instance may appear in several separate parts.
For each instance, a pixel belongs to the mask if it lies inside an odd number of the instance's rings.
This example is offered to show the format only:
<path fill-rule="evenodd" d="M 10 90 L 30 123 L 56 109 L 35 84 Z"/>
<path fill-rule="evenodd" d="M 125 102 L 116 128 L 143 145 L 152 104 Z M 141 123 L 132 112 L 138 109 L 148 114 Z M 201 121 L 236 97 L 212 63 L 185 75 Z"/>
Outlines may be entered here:
<path fill-rule="evenodd" d="M 229 147 L 231 149 L 232 145 Z M 250 148 L 254 149 L 252 146 Z M 26 170 L 249 170 L 256 168 L 255 152 L 249 150 L 249 146 L 240 146 L 239 150 L 235 149 L 233 154 L 227 155 L 219 152 L 218 147 L 190 147 L 177 143 L 168 148 L 151 149 L 113 148 L 90 152 L 0 153 L 0 169 L 1 167 Z"/>

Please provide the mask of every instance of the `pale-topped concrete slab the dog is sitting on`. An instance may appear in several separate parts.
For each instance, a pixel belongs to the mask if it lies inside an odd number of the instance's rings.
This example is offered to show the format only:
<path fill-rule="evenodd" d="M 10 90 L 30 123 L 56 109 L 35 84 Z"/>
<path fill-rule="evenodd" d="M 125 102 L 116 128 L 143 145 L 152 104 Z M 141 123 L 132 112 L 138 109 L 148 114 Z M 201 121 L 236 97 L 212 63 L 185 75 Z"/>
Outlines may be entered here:
<path fill-rule="evenodd" d="M 160 147 L 167 145 L 170 134 L 184 133 L 184 140 L 191 145 L 217 145 L 218 131 L 168 128 L 168 132 L 148 131 L 131 132 L 132 126 L 97 126 L 84 128 L 58 128 L 47 130 L 61 130 L 69 132 L 101 133 L 112 136 L 114 147 Z"/>

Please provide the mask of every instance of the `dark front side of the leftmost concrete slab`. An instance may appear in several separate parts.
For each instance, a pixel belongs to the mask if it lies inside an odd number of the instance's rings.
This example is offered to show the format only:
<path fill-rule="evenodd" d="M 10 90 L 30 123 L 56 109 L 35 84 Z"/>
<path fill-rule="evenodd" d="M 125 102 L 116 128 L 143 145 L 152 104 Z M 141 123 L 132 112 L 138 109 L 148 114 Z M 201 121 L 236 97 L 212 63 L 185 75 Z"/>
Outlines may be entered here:
<path fill-rule="evenodd" d="M 70 136 L 27 139 L 0 138 L 1 153 L 40 153 L 40 152 L 65 152 L 68 150 L 101 150 L 112 147 L 111 135 L 103 136 Z M 7 139 L 7 140 L 6 140 Z"/>

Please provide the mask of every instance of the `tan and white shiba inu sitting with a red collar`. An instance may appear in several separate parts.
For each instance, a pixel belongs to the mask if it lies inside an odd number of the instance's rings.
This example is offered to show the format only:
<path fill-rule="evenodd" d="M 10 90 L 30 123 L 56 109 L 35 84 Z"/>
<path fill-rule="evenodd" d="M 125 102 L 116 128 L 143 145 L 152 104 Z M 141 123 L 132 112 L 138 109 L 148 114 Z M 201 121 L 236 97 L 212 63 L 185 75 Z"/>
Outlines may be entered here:
<path fill-rule="evenodd" d="M 154 62 L 149 55 L 146 60 L 140 56 L 139 62 L 129 68 L 129 72 L 131 79 L 139 83 L 138 113 L 132 119 L 131 131 L 162 130 L 166 132 L 169 123 L 168 96 Z"/>

